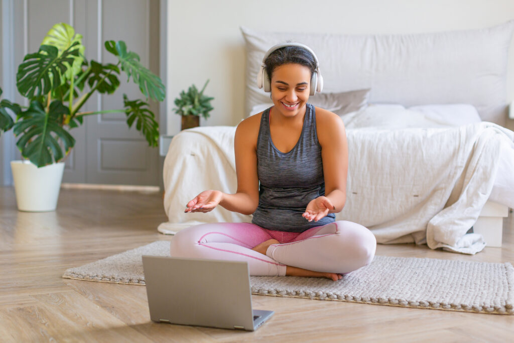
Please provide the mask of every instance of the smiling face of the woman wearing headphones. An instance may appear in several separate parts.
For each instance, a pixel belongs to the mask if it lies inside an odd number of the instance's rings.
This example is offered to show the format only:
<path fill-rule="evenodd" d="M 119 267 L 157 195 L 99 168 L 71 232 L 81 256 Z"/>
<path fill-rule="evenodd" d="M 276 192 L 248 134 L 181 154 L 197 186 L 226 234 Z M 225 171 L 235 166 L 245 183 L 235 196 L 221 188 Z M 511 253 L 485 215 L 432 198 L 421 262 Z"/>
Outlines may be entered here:
<path fill-rule="evenodd" d="M 305 112 L 310 93 L 310 69 L 296 63 L 276 67 L 271 75 L 271 100 L 286 117 Z"/>

